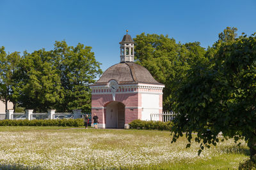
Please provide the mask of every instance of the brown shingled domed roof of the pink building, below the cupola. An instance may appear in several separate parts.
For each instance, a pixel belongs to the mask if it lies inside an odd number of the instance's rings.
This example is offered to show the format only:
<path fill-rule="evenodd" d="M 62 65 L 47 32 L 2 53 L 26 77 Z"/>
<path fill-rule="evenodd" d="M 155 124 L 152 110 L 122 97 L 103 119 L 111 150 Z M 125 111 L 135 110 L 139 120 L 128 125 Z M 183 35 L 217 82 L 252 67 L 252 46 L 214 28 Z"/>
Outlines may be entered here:
<path fill-rule="evenodd" d="M 124 62 L 109 67 L 93 85 L 107 85 L 108 81 L 112 79 L 116 80 L 118 84 L 163 85 L 157 82 L 145 67 L 134 62 Z"/>

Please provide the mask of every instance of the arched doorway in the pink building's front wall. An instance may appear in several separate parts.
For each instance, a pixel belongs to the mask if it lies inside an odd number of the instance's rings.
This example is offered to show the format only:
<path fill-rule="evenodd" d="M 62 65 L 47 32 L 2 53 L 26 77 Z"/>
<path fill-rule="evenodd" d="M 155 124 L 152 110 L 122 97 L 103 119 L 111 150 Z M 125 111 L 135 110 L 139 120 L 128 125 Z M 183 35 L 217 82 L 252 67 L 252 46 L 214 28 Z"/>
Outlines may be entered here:
<path fill-rule="evenodd" d="M 124 128 L 125 106 L 114 101 L 106 106 L 106 128 Z"/>

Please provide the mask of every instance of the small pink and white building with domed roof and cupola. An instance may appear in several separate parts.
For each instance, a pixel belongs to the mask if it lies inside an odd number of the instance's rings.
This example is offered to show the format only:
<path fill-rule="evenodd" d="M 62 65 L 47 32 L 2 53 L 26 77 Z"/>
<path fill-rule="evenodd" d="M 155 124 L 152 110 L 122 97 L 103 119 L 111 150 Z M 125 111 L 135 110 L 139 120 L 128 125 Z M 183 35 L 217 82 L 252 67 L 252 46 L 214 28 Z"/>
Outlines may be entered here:
<path fill-rule="evenodd" d="M 92 114 L 101 128 L 124 128 L 132 120 L 150 120 L 162 113 L 164 85 L 134 63 L 134 41 L 126 34 L 120 42 L 120 63 L 109 67 L 92 89 Z"/>

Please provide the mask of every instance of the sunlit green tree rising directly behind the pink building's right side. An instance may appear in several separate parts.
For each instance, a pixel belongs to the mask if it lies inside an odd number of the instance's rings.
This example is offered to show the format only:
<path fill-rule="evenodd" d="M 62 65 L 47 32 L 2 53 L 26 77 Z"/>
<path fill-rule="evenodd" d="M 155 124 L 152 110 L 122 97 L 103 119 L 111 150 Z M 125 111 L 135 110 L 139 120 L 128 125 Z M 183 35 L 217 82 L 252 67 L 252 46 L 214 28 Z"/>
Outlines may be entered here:
<path fill-rule="evenodd" d="M 198 42 L 182 45 L 168 36 L 142 33 L 134 38 L 134 46 L 136 62 L 165 85 L 164 110 L 173 109 L 173 95 L 188 69 L 199 60 L 207 62 L 205 50 Z"/>

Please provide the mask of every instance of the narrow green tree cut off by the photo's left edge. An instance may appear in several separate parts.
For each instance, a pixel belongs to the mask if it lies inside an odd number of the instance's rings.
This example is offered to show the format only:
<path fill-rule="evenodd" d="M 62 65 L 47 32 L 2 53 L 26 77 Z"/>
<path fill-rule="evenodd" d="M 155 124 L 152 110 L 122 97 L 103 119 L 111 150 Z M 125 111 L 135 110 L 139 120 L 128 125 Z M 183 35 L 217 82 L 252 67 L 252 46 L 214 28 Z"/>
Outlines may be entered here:
<path fill-rule="evenodd" d="M 5 103 L 5 110 L 8 109 L 8 101 L 13 103 L 13 108 L 17 103 L 17 96 L 15 96 L 15 83 L 13 83 L 15 71 L 20 62 L 19 52 L 6 53 L 4 46 L 0 48 L 0 96 Z"/>

